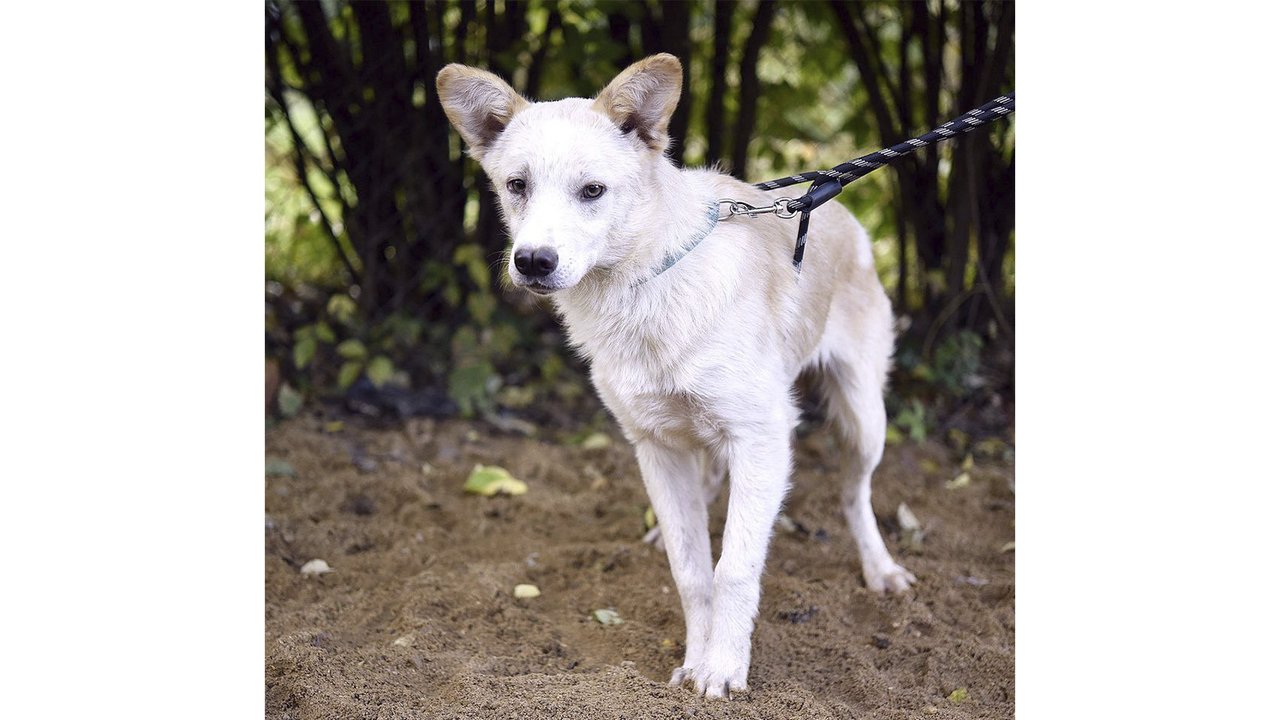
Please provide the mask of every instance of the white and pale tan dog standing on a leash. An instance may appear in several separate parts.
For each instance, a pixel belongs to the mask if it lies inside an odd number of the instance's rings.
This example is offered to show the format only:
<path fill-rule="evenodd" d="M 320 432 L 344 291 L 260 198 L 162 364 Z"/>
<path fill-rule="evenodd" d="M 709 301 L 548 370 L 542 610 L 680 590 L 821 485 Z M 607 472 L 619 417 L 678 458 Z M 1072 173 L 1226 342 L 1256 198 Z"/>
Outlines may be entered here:
<path fill-rule="evenodd" d="M 801 372 L 818 377 L 850 450 L 842 506 L 868 588 L 902 592 L 915 578 L 872 514 L 893 315 L 870 240 L 849 210 L 826 204 L 797 272 L 794 224 L 721 220 L 719 199 L 769 205 L 774 195 L 666 156 L 681 79 L 680 60 L 660 54 L 594 100 L 530 102 L 458 64 L 440 70 L 436 91 L 498 195 L 511 282 L 549 296 L 635 446 L 685 615 L 685 661 L 671 684 L 726 698 L 748 689 Z M 726 474 L 713 566 L 707 506 Z"/>

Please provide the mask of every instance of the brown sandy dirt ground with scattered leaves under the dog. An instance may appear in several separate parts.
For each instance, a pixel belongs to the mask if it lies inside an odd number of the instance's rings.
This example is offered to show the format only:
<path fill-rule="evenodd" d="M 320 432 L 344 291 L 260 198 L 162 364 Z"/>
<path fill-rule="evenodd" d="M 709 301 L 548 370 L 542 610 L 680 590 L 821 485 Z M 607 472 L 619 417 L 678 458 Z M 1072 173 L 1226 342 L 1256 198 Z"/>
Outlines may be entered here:
<path fill-rule="evenodd" d="M 947 487 L 957 452 L 887 450 L 877 516 L 919 583 L 881 598 L 856 570 L 831 433 L 803 428 L 750 692 L 717 702 L 666 684 L 684 653 L 680 601 L 664 553 L 640 541 L 631 450 L 609 433 L 582 450 L 425 419 L 270 429 L 268 456 L 292 474 L 273 462 L 283 474 L 266 479 L 266 717 L 1014 716 L 1011 461 L 979 456 Z M 465 495 L 476 464 L 507 468 L 527 495 Z M 924 527 L 919 553 L 897 548 L 900 502 Z M 721 497 L 713 548 L 723 512 Z M 333 573 L 303 575 L 312 559 Z M 516 600 L 520 583 L 541 596 Z"/>

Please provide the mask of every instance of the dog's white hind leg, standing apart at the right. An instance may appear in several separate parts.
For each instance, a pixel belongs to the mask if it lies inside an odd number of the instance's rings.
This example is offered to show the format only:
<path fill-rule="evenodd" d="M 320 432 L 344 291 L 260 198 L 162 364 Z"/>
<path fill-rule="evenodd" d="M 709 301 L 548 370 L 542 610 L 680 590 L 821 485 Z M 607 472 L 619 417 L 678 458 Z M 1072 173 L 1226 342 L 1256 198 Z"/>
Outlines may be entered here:
<path fill-rule="evenodd" d="M 841 503 L 863 562 L 863 579 L 873 592 L 902 592 L 915 582 L 893 561 L 872 512 L 872 473 L 884 452 L 884 363 L 859 357 L 829 357 L 822 363 L 828 413 L 849 442 L 850 475 Z"/>

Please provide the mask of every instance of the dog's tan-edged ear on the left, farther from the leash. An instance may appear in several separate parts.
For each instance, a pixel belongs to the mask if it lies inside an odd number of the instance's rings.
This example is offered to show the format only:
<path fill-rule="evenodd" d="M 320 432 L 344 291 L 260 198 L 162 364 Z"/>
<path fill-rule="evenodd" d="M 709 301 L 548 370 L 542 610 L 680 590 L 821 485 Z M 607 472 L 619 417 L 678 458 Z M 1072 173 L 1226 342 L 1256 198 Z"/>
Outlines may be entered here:
<path fill-rule="evenodd" d="M 529 101 L 500 77 L 452 63 L 435 76 L 435 92 L 444 114 L 479 160 Z"/>

